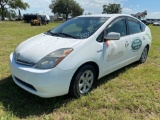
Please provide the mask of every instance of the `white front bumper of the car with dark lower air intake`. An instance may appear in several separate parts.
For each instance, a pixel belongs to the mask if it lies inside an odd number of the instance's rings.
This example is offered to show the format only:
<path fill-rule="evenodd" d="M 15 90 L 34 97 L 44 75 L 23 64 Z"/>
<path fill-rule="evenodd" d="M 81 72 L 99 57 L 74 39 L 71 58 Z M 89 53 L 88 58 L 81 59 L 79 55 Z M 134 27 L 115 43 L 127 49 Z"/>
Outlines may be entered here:
<path fill-rule="evenodd" d="M 75 72 L 74 69 L 61 70 L 58 67 L 41 70 L 19 65 L 15 62 L 13 53 L 10 55 L 10 71 L 18 86 L 44 98 L 67 94 Z"/>

